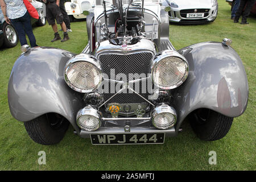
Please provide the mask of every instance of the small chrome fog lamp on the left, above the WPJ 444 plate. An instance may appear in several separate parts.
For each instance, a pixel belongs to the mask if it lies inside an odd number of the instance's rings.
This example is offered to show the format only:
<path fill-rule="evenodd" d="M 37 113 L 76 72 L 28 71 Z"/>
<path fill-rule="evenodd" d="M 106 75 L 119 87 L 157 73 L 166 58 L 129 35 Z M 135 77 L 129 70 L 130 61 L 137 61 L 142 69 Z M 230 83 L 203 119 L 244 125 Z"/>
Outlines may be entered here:
<path fill-rule="evenodd" d="M 95 131 L 101 126 L 101 115 L 97 109 L 86 106 L 77 113 L 76 123 L 82 130 Z"/>

